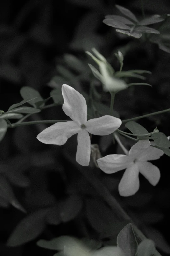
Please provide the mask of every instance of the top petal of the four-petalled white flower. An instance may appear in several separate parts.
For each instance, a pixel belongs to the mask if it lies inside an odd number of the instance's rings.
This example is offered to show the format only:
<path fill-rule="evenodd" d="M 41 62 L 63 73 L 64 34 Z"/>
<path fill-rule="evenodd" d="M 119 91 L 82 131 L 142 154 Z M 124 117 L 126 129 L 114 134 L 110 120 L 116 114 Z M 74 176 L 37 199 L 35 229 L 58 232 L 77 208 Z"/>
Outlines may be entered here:
<path fill-rule="evenodd" d="M 62 95 L 64 98 L 63 111 L 78 124 L 85 124 L 87 121 L 86 100 L 73 87 L 63 84 Z"/>

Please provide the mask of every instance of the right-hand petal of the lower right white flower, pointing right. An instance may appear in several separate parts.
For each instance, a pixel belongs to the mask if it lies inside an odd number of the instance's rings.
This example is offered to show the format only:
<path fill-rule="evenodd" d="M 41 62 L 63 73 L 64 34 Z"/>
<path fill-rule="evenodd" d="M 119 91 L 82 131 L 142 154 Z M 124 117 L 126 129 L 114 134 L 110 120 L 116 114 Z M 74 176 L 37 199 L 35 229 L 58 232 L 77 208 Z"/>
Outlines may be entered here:
<path fill-rule="evenodd" d="M 163 154 L 164 152 L 161 149 L 150 146 L 143 151 L 137 159 L 139 161 L 156 160 L 159 159 Z"/>

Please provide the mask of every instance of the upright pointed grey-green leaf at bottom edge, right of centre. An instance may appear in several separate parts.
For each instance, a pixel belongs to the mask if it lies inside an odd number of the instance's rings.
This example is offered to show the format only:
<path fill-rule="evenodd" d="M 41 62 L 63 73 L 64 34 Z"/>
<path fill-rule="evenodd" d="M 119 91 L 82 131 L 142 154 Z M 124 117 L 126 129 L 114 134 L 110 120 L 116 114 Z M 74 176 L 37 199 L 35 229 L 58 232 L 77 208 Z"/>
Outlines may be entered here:
<path fill-rule="evenodd" d="M 122 249 L 126 256 L 135 256 L 138 244 L 132 228 L 132 224 L 127 224 L 117 236 L 117 246 Z"/>

